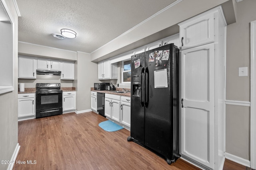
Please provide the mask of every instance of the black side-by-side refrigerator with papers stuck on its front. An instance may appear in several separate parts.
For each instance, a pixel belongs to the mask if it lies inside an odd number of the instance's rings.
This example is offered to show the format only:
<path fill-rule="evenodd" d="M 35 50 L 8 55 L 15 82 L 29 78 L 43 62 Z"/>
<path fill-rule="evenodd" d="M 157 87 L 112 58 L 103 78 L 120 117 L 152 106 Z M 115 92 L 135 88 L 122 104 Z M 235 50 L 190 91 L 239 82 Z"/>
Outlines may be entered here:
<path fill-rule="evenodd" d="M 172 43 L 131 59 L 131 126 L 134 141 L 166 159 L 179 157 L 179 49 Z"/>

